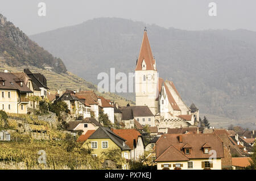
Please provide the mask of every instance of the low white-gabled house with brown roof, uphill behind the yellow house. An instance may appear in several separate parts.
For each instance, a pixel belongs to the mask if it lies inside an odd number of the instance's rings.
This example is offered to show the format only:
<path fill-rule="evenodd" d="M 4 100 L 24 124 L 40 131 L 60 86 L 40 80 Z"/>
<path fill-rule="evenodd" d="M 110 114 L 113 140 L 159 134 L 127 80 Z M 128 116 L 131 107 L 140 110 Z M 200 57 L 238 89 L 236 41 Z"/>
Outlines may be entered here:
<path fill-rule="evenodd" d="M 85 134 L 89 130 L 97 130 L 102 127 L 98 121 L 93 117 L 86 117 L 82 121 L 69 121 L 67 130 L 72 133 Z"/>

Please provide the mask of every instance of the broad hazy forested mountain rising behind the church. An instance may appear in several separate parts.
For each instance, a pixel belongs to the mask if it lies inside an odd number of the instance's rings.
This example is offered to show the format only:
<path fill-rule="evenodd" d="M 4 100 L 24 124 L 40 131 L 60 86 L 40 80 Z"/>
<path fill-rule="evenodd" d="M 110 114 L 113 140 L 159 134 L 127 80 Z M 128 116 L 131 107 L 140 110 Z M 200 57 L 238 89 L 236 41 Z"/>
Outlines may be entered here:
<path fill-rule="evenodd" d="M 185 103 L 202 113 L 256 121 L 256 32 L 185 31 L 97 18 L 30 37 L 61 57 L 69 71 L 98 83 L 98 73 L 110 68 L 134 72 L 145 26 L 159 76 L 175 83 Z"/>

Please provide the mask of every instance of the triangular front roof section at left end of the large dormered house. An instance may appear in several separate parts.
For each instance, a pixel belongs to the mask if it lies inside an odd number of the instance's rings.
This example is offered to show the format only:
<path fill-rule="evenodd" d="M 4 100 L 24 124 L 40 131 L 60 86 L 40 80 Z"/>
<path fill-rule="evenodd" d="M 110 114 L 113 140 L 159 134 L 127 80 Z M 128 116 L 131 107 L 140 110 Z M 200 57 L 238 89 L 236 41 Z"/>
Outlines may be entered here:
<path fill-rule="evenodd" d="M 156 162 L 172 162 L 172 161 L 189 161 L 189 158 L 186 157 L 181 151 L 177 150 L 174 146 L 170 146 L 165 150 L 158 158 Z"/>

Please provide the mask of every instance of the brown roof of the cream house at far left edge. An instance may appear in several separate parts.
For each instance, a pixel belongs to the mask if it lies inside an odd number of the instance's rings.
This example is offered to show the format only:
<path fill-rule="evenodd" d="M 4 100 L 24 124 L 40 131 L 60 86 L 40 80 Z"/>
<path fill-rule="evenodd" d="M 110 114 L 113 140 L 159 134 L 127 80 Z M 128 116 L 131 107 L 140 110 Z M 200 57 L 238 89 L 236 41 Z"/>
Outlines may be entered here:
<path fill-rule="evenodd" d="M 22 93 L 32 93 L 25 83 L 20 86 L 20 82 L 23 82 L 23 80 L 16 77 L 13 73 L 1 72 L 0 78 L 2 79 L 2 82 L 5 82 L 5 86 L 0 83 L 0 89 L 16 90 Z"/>

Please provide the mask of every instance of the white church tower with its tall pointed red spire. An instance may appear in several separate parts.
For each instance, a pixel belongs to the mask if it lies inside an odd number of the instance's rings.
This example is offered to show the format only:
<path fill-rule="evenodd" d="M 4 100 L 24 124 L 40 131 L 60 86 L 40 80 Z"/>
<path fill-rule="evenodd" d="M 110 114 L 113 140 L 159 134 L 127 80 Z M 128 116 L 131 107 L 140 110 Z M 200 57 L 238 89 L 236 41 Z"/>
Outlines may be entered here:
<path fill-rule="evenodd" d="M 148 106 L 155 115 L 158 110 L 158 72 L 145 28 L 135 69 L 136 106 Z"/>

